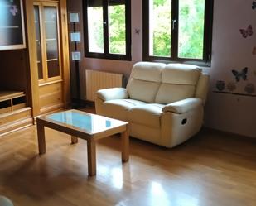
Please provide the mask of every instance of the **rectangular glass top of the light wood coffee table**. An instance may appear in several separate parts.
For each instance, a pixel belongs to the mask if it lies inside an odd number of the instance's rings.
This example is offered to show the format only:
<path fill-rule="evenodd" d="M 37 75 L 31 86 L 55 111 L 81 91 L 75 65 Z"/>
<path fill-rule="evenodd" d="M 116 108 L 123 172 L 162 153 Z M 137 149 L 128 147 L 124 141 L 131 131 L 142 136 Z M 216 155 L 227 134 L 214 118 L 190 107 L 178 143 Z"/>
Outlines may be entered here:
<path fill-rule="evenodd" d="M 87 133 L 102 132 L 113 127 L 127 124 L 127 122 L 92 113 L 80 112 L 75 109 L 60 113 L 52 113 L 46 115 L 45 119 L 51 120 L 51 122 L 57 122 L 65 127 L 79 128 Z"/>

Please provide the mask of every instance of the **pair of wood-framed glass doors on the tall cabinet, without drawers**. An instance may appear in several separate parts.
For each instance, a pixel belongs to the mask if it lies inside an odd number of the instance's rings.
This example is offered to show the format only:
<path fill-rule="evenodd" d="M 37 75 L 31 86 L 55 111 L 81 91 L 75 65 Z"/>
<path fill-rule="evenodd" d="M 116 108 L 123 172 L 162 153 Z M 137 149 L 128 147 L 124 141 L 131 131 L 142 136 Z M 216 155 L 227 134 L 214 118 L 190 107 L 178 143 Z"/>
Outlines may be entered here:
<path fill-rule="evenodd" d="M 58 6 L 34 2 L 39 84 L 61 79 Z"/>

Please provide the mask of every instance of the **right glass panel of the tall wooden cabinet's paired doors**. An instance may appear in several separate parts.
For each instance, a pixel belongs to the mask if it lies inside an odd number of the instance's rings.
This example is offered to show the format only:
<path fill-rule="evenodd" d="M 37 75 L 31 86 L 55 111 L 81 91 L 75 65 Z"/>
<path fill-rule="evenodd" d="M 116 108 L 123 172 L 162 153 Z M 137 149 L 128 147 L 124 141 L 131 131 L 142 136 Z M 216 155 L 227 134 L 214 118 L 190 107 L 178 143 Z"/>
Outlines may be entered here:
<path fill-rule="evenodd" d="M 46 62 L 48 78 L 60 76 L 57 8 L 44 7 L 44 26 L 46 36 Z"/>

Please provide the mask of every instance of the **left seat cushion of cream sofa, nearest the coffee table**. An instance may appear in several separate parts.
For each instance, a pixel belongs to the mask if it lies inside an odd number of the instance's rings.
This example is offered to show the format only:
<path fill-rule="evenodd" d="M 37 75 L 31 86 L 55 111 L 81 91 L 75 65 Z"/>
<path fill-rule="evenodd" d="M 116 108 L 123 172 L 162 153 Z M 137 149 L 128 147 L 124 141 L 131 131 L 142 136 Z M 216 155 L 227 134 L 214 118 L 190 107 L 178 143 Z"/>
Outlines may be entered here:
<path fill-rule="evenodd" d="M 120 120 L 127 120 L 128 111 L 131 108 L 144 105 L 146 103 L 134 99 L 114 99 L 105 101 L 102 105 L 103 115 Z"/>

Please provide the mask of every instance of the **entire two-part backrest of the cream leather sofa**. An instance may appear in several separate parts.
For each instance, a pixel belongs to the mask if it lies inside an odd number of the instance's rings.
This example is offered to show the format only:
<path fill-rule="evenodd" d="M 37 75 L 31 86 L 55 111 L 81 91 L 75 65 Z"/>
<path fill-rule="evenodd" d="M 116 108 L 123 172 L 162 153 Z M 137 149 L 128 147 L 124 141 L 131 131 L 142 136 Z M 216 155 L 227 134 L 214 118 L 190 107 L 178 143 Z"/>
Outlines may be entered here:
<path fill-rule="evenodd" d="M 208 80 L 196 65 L 139 62 L 133 65 L 127 89 L 130 98 L 147 103 L 166 104 L 192 97 L 205 102 Z"/>

